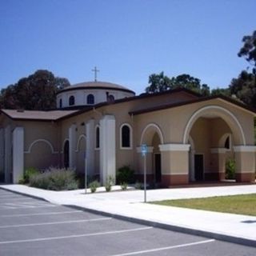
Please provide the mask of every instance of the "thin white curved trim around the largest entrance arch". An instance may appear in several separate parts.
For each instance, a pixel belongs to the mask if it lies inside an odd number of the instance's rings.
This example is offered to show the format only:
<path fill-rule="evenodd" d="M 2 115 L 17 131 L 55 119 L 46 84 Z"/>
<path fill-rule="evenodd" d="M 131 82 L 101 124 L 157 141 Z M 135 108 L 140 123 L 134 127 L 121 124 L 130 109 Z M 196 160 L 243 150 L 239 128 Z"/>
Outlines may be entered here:
<path fill-rule="evenodd" d="M 202 114 L 203 111 L 205 110 L 222 110 L 223 112 L 225 112 L 226 114 L 229 114 L 231 118 L 233 118 L 233 121 L 236 123 L 236 125 L 238 126 L 238 129 L 240 131 L 240 135 L 242 136 L 242 144 L 245 146 L 246 145 L 246 137 L 245 137 L 245 134 L 242 130 L 242 126 L 240 124 L 240 122 L 238 121 L 238 118 L 236 118 L 234 116 L 234 114 L 232 114 L 230 112 L 230 110 L 226 110 L 225 108 L 223 108 L 222 106 L 214 106 L 214 105 L 211 105 L 211 106 L 203 106 L 201 109 L 197 110 L 194 112 L 194 114 L 190 117 L 190 120 L 189 122 L 187 122 L 186 124 L 186 128 L 185 128 L 185 131 L 184 131 L 184 134 L 183 134 L 183 143 L 186 144 L 188 138 L 189 138 L 189 132 L 190 132 L 190 129 L 191 127 L 193 126 L 194 122 L 200 118 L 200 115 Z"/>

